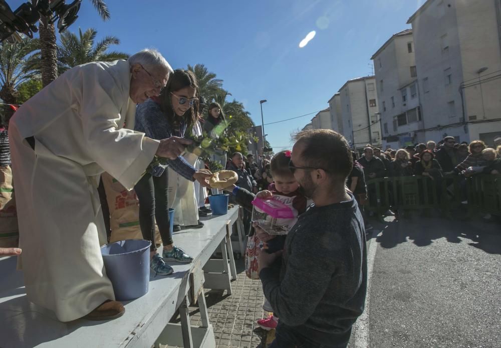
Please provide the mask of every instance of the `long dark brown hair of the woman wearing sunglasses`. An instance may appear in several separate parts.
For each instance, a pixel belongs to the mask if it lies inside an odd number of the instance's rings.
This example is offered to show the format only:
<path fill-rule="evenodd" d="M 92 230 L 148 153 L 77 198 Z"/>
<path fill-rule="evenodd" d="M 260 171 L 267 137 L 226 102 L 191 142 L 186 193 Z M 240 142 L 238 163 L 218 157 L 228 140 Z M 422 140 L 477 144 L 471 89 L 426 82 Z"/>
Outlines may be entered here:
<path fill-rule="evenodd" d="M 174 112 L 172 106 L 173 96 L 171 93 L 175 93 L 186 87 L 193 88 L 195 90 L 195 96 L 198 95 L 198 82 L 195 75 L 189 70 L 176 69 L 172 74 L 170 74 L 167 85 L 162 89 L 160 96 L 157 99 L 160 104 L 160 109 L 167 117 L 167 120 L 171 126 L 179 125 L 181 121 L 181 118 Z M 186 122 L 186 131 L 191 133 L 193 124 L 198 119 L 197 112 L 194 109 L 193 105 L 190 106 L 190 108 L 186 110 L 184 115 L 181 117 Z"/>

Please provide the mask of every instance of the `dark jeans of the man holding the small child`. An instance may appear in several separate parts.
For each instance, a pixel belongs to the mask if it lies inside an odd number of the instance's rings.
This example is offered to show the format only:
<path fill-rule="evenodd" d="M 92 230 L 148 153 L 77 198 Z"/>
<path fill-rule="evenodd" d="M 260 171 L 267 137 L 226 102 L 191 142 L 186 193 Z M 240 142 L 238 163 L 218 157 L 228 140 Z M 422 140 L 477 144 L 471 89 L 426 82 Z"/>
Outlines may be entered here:
<path fill-rule="evenodd" d="M 315 337 L 305 337 L 298 332 L 297 328 L 287 326 L 279 321 L 275 331 L 275 339 L 268 348 L 346 348 L 347 345 L 348 341 L 332 344 L 316 342 Z"/>

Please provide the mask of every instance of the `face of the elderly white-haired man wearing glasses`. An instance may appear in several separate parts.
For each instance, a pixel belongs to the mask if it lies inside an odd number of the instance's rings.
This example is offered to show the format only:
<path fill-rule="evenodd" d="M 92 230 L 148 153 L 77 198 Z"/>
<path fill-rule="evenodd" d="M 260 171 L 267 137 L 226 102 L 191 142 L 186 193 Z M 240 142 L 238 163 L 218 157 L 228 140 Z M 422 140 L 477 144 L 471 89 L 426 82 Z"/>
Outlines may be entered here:
<path fill-rule="evenodd" d="M 137 63 L 131 67 L 131 73 L 129 96 L 134 103 L 143 103 L 146 99 L 159 95 L 169 79 L 169 73 L 161 68 L 147 71 Z"/>

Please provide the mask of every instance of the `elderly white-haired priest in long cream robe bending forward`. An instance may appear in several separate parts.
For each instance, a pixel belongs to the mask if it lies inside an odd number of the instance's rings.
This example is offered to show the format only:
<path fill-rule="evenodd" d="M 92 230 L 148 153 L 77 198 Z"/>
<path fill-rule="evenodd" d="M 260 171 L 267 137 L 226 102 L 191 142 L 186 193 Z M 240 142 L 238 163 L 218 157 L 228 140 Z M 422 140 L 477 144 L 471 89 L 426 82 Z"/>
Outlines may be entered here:
<path fill-rule="evenodd" d="M 84 64 L 42 89 L 10 121 L 26 292 L 61 321 L 124 312 L 103 266 L 97 183 L 107 171 L 132 189 L 155 154 L 174 159 L 190 143 L 124 128 L 134 125 L 136 103 L 158 95 L 171 72 L 155 50 Z"/>

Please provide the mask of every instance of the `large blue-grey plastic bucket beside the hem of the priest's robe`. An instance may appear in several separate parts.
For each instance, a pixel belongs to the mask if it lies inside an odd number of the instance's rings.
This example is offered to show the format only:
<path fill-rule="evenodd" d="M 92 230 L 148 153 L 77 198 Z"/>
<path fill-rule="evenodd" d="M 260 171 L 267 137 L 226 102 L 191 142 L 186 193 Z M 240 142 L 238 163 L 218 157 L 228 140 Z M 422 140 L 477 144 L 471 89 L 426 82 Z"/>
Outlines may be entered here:
<path fill-rule="evenodd" d="M 150 241 L 129 239 L 101 247 L 106 274 L 118 301 L 132 300 L 148 292 L 150 246 Z"/>

